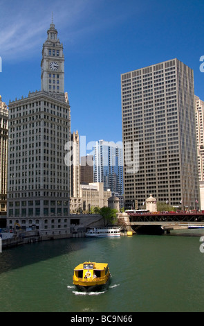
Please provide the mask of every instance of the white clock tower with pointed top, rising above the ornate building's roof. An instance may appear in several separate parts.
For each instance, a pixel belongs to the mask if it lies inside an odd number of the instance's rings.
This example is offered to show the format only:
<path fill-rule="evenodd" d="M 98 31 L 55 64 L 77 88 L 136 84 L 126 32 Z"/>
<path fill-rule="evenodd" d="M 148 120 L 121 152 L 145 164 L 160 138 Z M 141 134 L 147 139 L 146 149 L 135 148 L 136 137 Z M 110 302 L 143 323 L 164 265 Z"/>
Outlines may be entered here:
<path fill-rule="evenodd" d="M 41 60 L 41 90 L 64 98 L 64 53 L 57 38 L 55 24 L 50 24 L 48 38 L 43 44 Z"/>

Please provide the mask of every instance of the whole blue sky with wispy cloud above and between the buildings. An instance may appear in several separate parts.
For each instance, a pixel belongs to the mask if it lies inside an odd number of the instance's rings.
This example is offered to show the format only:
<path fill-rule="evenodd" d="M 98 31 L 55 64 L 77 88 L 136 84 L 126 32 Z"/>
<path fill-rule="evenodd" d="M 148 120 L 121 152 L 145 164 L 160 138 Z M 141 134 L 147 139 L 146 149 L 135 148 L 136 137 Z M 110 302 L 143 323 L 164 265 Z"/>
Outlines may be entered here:
<path fill-rule="evenodd" d="M 0 0 L 3 101 L 41 88 L 41 49 L 53 12 L 64 45 L 71 130 L 122 140 L 120 74 L 172 58 L 194 69 L 204 100 L 203 0 Z"/>

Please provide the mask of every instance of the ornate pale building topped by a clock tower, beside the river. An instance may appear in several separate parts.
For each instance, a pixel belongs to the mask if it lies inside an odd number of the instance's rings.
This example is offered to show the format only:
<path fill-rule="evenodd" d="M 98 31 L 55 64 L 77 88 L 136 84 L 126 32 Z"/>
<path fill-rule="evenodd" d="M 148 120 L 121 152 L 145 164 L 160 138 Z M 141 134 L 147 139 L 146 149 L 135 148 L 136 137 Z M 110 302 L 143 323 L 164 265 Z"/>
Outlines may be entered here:
<path fill-rule="evenodd" d="M 9 103 L 8 227 L 69 233 L 70 105 L 64 54 L 54 24 L 43 45 L 41 91 Z"/>

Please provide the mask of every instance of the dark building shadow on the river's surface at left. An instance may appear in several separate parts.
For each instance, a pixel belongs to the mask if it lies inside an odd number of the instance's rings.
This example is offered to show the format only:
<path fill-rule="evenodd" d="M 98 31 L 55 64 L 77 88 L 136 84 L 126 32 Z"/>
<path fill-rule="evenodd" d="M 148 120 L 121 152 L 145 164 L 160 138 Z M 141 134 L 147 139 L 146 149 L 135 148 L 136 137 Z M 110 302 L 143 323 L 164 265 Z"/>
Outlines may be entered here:
<path fill-rule="evenodd" d="M 94 240 L 85 238 L 57 239 L 3 250 L 0 253 L 0 274 L 84 249 L 90 241 Z"/>

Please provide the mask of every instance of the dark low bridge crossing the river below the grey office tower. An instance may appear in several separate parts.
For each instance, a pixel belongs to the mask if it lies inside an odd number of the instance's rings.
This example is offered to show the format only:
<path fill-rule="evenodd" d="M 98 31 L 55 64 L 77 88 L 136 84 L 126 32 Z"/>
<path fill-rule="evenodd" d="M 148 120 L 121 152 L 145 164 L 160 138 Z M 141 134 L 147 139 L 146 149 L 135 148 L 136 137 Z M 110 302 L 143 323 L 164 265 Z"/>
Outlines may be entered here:
<path fill-rule="evenodd" d="M 126 225 L 137 233 L 169 232 L 178 226 L 204 227 L 203 212 L 127 213 Z"/>

